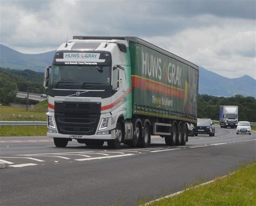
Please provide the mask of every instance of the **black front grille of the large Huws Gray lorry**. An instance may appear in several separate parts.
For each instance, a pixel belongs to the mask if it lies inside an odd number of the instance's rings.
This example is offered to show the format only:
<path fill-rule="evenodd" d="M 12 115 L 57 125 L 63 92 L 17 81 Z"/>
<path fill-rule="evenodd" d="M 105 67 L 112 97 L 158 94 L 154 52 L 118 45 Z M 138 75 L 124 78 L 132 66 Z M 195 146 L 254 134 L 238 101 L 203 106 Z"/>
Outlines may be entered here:
<path fill-rule="evenodd" d="M 60 134 L 95 134 L 99 118 L 100 103 L 55 102 L 55 120 Z"/>

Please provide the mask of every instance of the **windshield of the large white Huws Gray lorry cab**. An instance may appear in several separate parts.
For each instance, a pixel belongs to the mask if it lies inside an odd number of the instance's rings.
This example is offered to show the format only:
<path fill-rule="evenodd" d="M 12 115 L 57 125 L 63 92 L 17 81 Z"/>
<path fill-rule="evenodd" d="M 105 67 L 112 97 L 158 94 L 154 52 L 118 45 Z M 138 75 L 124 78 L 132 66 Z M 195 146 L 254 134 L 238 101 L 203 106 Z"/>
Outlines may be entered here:
<path fill-rule="evenodd" d="M 81 83 L 110 85 L 110 66 L 52 65 L 50 84 Z"/>

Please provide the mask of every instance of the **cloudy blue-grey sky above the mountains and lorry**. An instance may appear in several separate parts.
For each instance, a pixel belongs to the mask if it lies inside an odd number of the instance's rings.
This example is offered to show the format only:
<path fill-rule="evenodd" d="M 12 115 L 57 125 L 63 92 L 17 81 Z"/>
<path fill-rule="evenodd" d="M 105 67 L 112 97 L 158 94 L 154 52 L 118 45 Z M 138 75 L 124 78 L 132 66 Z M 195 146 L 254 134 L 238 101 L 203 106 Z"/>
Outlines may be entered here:
<path fill-rule="evenodd" d="M 256 1 L 5 1 L 0 43 L 22 53 L 73 35 L 137 36 L 199 66 L 256 79 Z"/>

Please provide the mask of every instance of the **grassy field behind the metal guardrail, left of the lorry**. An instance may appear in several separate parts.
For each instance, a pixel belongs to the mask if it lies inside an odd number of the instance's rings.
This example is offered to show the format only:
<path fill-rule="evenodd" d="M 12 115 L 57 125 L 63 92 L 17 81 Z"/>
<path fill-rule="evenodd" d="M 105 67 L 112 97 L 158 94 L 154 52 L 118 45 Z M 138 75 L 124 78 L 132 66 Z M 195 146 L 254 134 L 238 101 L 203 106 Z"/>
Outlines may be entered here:
<path fill-rule="evenodd" d="M 45 111 L 41 108 L 26 110 L 13 108 L 11 106 L 0 106 L 0 121 L 44 121 L 46 122 Z"/>

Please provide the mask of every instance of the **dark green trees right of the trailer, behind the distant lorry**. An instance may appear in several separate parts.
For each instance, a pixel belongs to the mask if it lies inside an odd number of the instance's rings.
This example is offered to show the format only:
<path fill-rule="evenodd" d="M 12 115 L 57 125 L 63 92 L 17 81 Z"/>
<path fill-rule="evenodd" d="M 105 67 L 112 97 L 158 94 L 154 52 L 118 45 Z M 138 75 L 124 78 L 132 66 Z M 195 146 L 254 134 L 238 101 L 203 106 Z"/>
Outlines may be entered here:
<path fill-rule="evenodd" d="M 256 100 L 254 97 L 235 95 L 233 97 L 198 96 L 198 118 L 219 120 L 220 105 L 237 105 L 238 120 L 256 122 Z"/>

